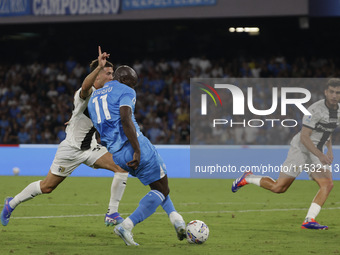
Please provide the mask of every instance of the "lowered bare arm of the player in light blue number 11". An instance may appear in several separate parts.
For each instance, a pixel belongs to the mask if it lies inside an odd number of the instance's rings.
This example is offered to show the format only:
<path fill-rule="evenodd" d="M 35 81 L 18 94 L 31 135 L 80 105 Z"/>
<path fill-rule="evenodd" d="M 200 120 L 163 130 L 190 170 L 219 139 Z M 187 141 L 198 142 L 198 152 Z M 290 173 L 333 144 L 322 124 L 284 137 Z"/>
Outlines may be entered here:
<path fill-rule="evenodd" d="M 122 126 L 126 137 L 135 151 L 133 154 L 133 160 L 127 162 L 127 166 L 136 170 L 140 162 L 140 147 L 137 139 L 136 128 L 132 122 L 132 112 L 129 106 L 121 106 L 120 109 L 120 119 L 122 121 Z"/>

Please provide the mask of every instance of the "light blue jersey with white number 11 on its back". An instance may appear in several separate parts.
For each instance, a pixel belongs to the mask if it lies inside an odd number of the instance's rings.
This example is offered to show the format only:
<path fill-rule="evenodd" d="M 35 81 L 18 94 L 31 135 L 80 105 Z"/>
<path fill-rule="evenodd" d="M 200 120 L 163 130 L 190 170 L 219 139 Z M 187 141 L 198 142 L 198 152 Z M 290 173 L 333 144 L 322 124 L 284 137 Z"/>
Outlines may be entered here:
<path fill-rule="evenodd" d="M 133 112 L 135 111 L 136 92 L 118 81 L 110 81 L 103 88 L 92 93 L 88 111 L 94 127 L 100 134 L 102 145 L 113 154 L 120 150 L 128 140 L 124 134 L 119 109 L 129 106 L 137 137 L 142 135 Z"/>

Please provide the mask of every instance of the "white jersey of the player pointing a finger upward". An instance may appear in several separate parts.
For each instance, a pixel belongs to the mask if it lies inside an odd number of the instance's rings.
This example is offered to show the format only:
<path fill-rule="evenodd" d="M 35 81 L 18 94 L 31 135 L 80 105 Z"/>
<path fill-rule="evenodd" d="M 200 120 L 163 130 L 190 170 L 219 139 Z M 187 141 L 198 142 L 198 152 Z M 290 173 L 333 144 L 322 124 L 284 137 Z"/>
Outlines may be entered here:
<path fill-rule="evenodd" d="M 80 97 L 80 91 L 81 88 L 74 94 L 74 109 L 72 111 L 72 117 L 66 127 L 65 140 L 72 147 L 80 150 L 88 150 L 97 144 L 95 139 L 96 129 L 93 127 L 87 111 L 87 103 L 91 95 L 84 100 Z"/>

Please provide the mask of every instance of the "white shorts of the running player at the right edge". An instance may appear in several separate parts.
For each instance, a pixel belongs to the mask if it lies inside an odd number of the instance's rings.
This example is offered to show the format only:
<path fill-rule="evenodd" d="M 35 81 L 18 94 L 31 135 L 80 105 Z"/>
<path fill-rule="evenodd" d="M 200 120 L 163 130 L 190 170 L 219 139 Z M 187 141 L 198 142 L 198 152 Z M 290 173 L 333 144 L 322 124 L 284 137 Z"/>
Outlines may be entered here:
<path fill-rule="evenodd" d="M 309 151 L 302 151 L 300 147 L 291 145 L 288 151 L 288 156 L 282 164 L 282 173 L 291 177 L 298 177 L 304 170 L 312 179 L 311 174 L 322 172 L 324 169 L 330 170 L 328 165 L 323 165 L 319 158 Z"/>

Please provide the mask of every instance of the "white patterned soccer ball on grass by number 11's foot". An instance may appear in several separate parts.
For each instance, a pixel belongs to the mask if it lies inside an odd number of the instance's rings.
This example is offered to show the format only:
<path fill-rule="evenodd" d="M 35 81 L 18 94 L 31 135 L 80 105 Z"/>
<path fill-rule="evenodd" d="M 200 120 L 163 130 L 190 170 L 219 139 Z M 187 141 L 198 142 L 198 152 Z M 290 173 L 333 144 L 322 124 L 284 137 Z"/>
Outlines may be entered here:
<path fill-rule="evenodd" d="M 202 244 L 209 237 L 209 228 L 201 220 L 190 221 L 185 228 L 187 241 L 193 244 Z"/>

